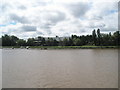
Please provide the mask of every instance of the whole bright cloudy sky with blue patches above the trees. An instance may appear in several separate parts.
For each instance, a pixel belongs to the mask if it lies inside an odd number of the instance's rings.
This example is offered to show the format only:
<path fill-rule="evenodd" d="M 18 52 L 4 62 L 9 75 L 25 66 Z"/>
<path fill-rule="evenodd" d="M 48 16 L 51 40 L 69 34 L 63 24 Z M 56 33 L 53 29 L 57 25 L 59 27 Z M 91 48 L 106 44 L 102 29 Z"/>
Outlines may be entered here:
<path fill-rule="evenodd" d="M 19 38 L 118 29 L 118 0 L 0 0 L 0 32 Z"/>

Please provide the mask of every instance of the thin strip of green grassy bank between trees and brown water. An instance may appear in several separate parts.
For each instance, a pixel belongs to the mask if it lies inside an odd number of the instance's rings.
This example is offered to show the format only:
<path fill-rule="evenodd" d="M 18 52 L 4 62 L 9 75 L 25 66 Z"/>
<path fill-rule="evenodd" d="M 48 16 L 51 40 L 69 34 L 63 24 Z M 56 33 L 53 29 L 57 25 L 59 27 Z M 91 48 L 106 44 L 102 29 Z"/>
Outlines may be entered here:
<path fill-rule="evenodd" d="M 0 48 L 26 48 L 25 46 L 3 46 Z M 118 49 L 118 46 L 29 46 L 31 49 Z"/>

